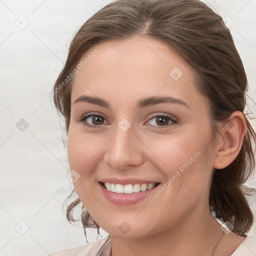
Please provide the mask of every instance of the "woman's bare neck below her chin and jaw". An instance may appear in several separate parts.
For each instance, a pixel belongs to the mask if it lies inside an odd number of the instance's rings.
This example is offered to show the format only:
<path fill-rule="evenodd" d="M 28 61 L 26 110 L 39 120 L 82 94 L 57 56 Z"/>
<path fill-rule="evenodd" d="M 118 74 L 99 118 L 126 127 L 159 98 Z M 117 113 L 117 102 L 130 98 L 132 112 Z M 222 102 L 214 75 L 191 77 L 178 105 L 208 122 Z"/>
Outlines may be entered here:
<path fill-rule="evenodd" d="M 111 256 L 212 256 L 222 234 L 220 224 L 201 203 L 200 209 L 160 233 L 146 237 L 111 235 Z"/>

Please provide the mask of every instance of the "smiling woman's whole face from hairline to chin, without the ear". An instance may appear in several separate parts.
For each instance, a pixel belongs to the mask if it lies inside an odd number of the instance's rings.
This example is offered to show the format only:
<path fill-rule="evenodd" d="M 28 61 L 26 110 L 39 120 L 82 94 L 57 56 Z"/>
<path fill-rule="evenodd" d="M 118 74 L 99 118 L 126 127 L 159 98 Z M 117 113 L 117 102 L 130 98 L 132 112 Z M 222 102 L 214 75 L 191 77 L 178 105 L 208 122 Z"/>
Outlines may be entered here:
<path fill-rule="evenodd" d="M 80 61 L 67 150 L 93 219 L 110 234 L 142 237 L 208 212 L 215 151 L 208 101 L 191 66 L 163 42 L 138 36 L 94 45 Z M 158 185 L 137 192 L 149 183 Z"/>

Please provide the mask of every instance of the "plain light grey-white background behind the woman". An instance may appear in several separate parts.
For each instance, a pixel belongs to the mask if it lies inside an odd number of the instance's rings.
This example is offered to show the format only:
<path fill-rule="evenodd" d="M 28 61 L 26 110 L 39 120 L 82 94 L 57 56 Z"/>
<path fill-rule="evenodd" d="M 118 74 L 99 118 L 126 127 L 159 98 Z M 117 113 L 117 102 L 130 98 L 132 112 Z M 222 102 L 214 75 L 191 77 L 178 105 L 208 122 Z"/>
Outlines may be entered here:
<path fill-rule="evenodd" d="M 62 212 L 72 184 L 61 126 L 46 95 L 74 33 L 108 2 L 0 0 L 0 255 L 45 256 L 86 243 L 82 225 L 73 227 Z M 234 21 L 230 30 L 247 73 L 247 94 L 256 99 L 256 0 L 204 2 Z M 249 107 L 255 114 L 252 101 Z M 16 127 L 21 118 L 28 123 L 23 131 Z M 247 184 L 256 187 L 255 177 Z M 255 223 L 249 233 L 256 234 Z M 95 231 L 88 230 L 88 240 L 96 240 Z"/>

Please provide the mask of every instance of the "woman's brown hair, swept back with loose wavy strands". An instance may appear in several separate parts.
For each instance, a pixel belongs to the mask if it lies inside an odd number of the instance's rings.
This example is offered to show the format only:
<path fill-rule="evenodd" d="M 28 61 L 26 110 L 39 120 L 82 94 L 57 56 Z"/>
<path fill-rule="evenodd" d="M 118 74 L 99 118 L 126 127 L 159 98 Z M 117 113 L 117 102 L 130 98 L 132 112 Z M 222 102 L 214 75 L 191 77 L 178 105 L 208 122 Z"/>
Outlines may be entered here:
<path fill-rule="evenodd" d="M 125 39 L 133 35 L 156 38 L 175 47 L 195 69 L 198 91 L 210 102 L 213 142 L 219 132 L 217 122 L 226 124 L 233 111 L 243 113 L 246 105 L 247 79 L 241 58 L 229 29 L 222 18 L 199 0 L 116 0 L 91 16 L 71 41 L 66 63 L 59 74 L 52 93 L 58 113 L 64 117 L 66 133 L 70 121 L 72 80 L 63 81 L 75 68 L 86 50 L 108 39 Z M 243 183 L 255 167 L 256 133 L 246 120 L 246 134 L 242 147 L 225 168 L 214 169 L 209 205 L 215 217 L 229 221 L 232 232 L 243 235 L 252 225 L 253 214 L 246 200 L 255 189 Z M 70 199 L 72 193 L 66 198 Z M 66 209 L 68 221 L 78 206 L 77 198 Z M 82 206 L 81 220 L 86 227 L 99 225 Z"/>

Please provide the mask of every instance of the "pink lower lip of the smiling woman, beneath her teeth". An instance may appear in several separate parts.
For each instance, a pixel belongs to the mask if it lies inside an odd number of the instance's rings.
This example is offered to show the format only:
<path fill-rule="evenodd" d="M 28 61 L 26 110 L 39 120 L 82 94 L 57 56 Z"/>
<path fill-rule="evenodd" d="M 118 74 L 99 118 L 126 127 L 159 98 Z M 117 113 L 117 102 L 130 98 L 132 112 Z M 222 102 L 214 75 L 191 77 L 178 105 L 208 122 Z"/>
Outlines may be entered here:
<path fill-rule="evenodd" d="M 158 184 L 149 190 L 140 191 L 137 193 L 124 194 L 108 191 L 106 188 L 103 187 L 103 185 L 100 182 L 98 182 L 98 184 L 104 196 L 110 202 L 119 205 L 130 205 L 144 199 L 145 197 L 149 197 L 149 195 L 152 194 L 152 192 L 159 186 Z"/>

